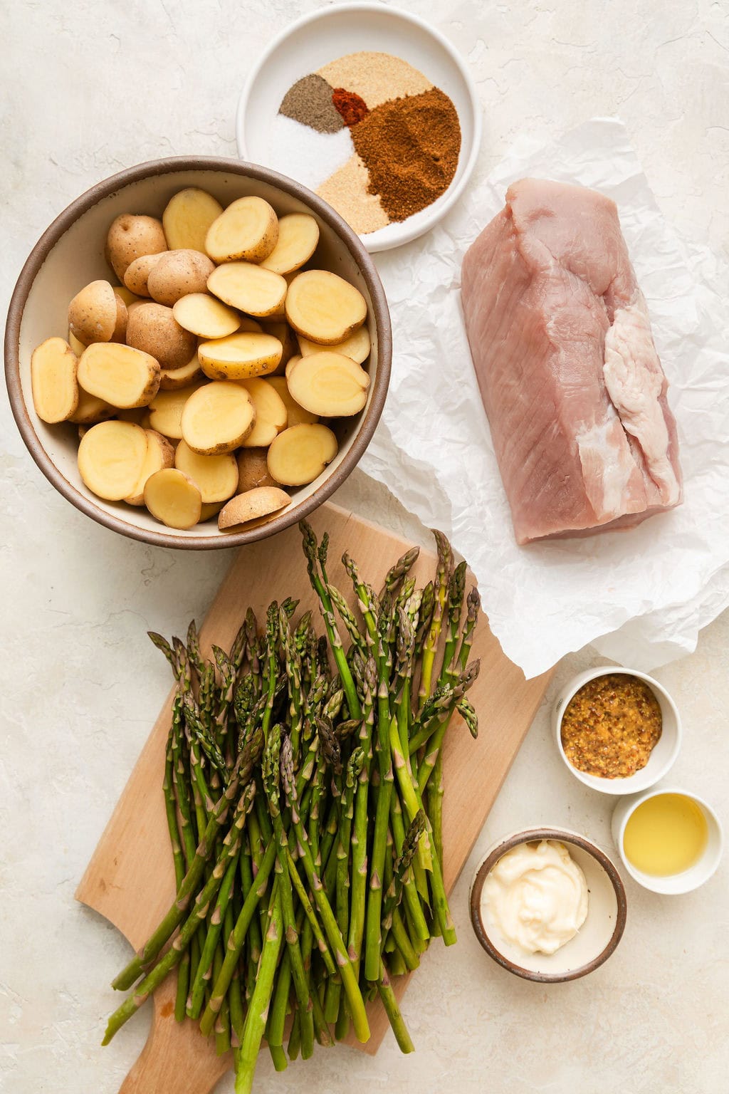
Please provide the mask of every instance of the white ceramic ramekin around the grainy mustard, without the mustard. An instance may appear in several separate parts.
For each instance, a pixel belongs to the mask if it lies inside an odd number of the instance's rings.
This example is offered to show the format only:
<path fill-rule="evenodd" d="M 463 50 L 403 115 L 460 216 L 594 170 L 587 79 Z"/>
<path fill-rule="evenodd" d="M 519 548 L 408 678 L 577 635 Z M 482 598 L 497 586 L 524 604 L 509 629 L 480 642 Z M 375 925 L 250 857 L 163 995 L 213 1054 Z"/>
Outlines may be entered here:
<path fill-rule="evenodd" d="M 639 771 L 636 771 L 635 775 L 627 776 L 624 779 L 601 779 L 596 775 L 588 775 L 586 771 L 580 771 L 567 759 L 565 750 L 562 747 L 562 719 L 569 700 L 579 691 L 581 687 L 584 687 L 585 684 L 596 679 L 598 676 L 616 675 L 637 676 L 638 679 L 644 680 L 648 685 L 658 699 L 658 703 L 660 706 L 662 729 L 660 740 L 650 753 L 650 757 L 645 767 L 640 768 Z M 562 756 L 562 759 L 568 770 L 572 771 L 576 779 L 584 782 L 586 787 L 590 787 L 592 790 L 599 790 L 603 794 L 635 794 L 655 785 L 655 783 L 658 782 L 659 779 L 665 778 L 665 776 L 668 775 L 670 769 L 673 767 L 673 763 L 675 757 L 679 755 L 679 749 L 681 747 L 681 717 L 673 699 L 670 697 L 666 688 L 662 684 L 659 684 L 658 680 L 655 680 L 652 676 L 648 676 L 646 673 L 640 673 L 636 668 L 624 668 L 621 665 L 598 665 L 597 668 L 588 668 L 584 673 L 579 673 L 577 676 L 574 676 L 562 688 L 560 695 L 557 696 L 554 703 L 552 724 L 554 726 L 554 736 L 556 738 L 560 756 Z"/>

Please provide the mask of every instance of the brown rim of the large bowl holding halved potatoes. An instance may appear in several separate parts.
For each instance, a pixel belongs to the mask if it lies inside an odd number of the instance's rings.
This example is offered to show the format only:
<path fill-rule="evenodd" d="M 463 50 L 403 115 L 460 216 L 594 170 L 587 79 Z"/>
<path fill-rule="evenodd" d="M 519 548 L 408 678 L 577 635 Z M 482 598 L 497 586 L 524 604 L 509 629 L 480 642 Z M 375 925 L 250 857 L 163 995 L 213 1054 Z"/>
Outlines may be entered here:
<path fill-rule="evenodd" d="M 254 178 L 257 182 L 275 186 L 308 206 L 341 238 L 360 268 L 372 300 L 374 322 L 377 328 L 377 376 L 373 384 L 372 399 L 349 452 L 336 470 L 305 501 L 286 508 L 279 516 L 274 516 L 271 521 L 257 528 L 250 528 L 247 532 L 234 532 L 230 535 L 223 535 L 215 529 L 214 534 L 195 538 L 177 535 L 174 529 L 167 529 L 166 533 L 140 528 L 121 516 L 107 513 L 101 507 L 97 507 L 95 502 L 86 498 L 66 478 L 47 455 L 28 415 L 21 386 L 19 350 L 23 312 L 33 282 L 52 247 L 75 223 L 79 217 L 87 212 L 89 209 L 93 208 L 99 201 L 132 183 L 138 183 L 156 175 L 169 175 L 189 171 L 213 171 L 240 175 L 245 178 Z M 307 516 L 315 509 L 318 509 L 348 478 L 367 449 L 383 412 L 383 407 L 385 406 L 392 360 L 392 328 L 385 289 L 372 257 L 356 232 L 320 197 L 295 179 L 255 163 L 228 159 L 226 156 L 175 155 L 136 164 L 115 175 L 110 175 L 108 178 L 102 179 L 102 182 L 95 183 L 51 221 L 32 248 L 13 289 L 8 309 L 4 353 L 5 383 L 11 410 L 17 429 L 38 468 L 67 501 L 70 501 L 78 510 L 96 521 L 97 524 L 102 524 L 130 539 L 137 539 L 140 543 L 151 544 L 155 547 L 180 548 L 184 550 L 212 550 L 226 547 L 240 547 L 244 544 L 266 539 L 278 532 L 283 532 L 284 528 L 291 527 L 292 524 L 295 524 L 302 517 Z"/>

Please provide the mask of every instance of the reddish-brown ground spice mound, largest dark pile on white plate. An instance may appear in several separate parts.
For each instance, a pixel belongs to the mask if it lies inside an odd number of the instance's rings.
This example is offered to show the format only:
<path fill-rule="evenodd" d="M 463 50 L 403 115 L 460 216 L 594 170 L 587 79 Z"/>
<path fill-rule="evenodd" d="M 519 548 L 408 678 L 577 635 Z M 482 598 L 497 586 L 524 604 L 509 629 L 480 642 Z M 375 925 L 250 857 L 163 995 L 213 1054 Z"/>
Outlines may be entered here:
<path fill-rule="evenodd" d="M 450 185 L 460 152 L 456 107 L 439 88 L 376 106 L 351 129 L 390 220 L 405 220 L 432 205 Z"/>

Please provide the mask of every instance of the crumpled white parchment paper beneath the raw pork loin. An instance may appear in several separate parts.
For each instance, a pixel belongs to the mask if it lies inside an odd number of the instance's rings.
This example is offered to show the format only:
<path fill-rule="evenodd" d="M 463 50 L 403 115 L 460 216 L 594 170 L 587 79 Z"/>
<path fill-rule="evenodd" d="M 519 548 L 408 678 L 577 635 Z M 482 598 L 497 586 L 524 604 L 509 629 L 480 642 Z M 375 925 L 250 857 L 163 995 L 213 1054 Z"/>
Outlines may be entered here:
<path fill-rule="evenodd" d="M 684 502 L 637 528 L 518 547 L 460 310 L 466 249 L 531 175 L 616 202 L 679 426 Z M 418 243 L 377 256 L 392 313 L 390 391 L 362 467 L 469 560 L 492 630 L 528 677 L 593 642 L 644 671 L 690 652 L 729 604 L 727 269 L 663 220 L 616 119 L 524 137 Z M 724 286 L 721 294 L 720 287 Z"/>

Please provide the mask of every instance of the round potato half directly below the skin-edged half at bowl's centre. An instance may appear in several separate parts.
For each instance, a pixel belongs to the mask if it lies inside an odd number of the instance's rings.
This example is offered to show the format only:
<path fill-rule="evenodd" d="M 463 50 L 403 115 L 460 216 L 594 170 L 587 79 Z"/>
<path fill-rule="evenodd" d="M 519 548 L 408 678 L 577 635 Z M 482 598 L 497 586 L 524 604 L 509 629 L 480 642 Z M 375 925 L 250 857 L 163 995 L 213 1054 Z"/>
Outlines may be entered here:
<path fill-rule="evenodd" d="M 213 382 L 199 387 L 183 408 L 183 440 L 193 452 L 216 456 L 233 452 L 256 421 L 254 401 L 239 384 Z"/>

